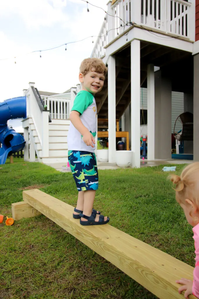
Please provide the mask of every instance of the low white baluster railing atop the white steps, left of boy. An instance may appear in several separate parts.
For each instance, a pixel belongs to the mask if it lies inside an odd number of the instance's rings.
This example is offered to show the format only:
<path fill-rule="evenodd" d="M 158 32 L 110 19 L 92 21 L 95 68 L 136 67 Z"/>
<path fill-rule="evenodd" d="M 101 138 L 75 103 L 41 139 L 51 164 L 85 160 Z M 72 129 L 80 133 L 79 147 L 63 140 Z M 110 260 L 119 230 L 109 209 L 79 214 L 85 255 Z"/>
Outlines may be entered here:
<path fill-rule="evenodd" d="M 49 97 L 42 96 L 44 105 L 47 105 L 47 110 L 50 111 L 50 118 L 68 119 L 69 118 L 69 103 L 70 100 L 65 97 Z"/>

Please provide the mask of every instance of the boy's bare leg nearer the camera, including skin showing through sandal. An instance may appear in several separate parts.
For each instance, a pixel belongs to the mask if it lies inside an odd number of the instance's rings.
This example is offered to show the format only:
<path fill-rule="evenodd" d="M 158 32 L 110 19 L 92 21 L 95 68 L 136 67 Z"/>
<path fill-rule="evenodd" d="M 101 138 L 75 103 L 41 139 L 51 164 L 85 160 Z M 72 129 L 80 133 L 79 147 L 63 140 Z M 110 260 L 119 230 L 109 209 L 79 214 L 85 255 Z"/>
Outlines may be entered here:
<path fill-rule="evenodd" d="M 92 214 L 92 207 L 95 199 L 95 190 L 87 190 L 84 191 L 84 208 L 83 208 L 83 214 L 86 216 L 91 216 Z M 95 221 L 99 221 L 99 214 L 96 214 Z M 82 221 L 88 221 L 85 218 L 81 217 Z M 104 217 L 104 221 L 107 221 L 107 217 Z"/>

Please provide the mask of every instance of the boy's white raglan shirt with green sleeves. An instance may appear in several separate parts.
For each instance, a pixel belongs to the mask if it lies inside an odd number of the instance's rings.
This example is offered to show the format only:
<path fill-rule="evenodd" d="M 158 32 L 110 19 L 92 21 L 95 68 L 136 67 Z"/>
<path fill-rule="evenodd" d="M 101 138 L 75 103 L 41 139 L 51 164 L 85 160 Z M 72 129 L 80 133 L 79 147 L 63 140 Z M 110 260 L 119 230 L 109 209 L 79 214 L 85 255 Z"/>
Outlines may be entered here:
<path fill-rule="evenodd" d="M 97 107 L 94 96 L 86 90 L 81 90 L 75 97 L 72 110 L 80 113 L 80 119 L 83 125 L 91 132 L 95 138 L 97 131 Z M 81 133 L 70 123 L 67 136 L 68 150 L 79 150 L 94 152 L 94 147 L 86 145 L 83 141 Z"/>

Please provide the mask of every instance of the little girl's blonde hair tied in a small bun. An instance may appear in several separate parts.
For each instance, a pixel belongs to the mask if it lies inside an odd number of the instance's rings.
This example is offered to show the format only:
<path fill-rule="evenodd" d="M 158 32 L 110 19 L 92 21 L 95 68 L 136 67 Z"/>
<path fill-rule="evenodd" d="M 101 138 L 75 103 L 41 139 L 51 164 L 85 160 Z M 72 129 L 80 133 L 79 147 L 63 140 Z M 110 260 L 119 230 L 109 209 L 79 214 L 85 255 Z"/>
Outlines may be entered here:
<path fill-rule="evenodd" d="M 180 176 L 173 174 L 169 179 L 175 185 L 177 202 L 186 204 L 185 199 L 189 199 L 199 207 L 199 162 L 189 164 Z"/>

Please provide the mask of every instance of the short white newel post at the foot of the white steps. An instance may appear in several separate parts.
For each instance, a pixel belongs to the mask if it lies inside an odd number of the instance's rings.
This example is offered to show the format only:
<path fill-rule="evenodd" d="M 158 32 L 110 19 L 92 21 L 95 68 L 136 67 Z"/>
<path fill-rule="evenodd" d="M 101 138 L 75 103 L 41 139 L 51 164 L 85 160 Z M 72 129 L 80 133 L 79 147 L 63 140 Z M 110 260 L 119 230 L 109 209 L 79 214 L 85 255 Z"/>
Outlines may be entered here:
<path fill-rule="evenodd" d="M 49 111 L 41 112 L 42 118 L 42 157 L 49 157 Z"/>

